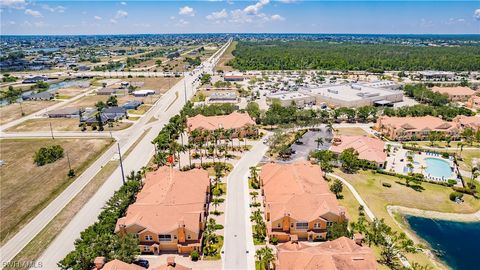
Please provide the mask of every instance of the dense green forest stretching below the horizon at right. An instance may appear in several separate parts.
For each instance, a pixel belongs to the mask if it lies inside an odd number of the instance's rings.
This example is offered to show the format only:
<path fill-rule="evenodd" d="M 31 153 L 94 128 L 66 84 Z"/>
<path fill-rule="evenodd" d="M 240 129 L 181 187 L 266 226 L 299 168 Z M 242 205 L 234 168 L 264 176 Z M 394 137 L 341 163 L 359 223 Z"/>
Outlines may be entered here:
<path fill-rule="evenodd" d="M 480 70 L 480 46 L 243 41 L 233 55 L 228 65 L 239 70 Z"/>

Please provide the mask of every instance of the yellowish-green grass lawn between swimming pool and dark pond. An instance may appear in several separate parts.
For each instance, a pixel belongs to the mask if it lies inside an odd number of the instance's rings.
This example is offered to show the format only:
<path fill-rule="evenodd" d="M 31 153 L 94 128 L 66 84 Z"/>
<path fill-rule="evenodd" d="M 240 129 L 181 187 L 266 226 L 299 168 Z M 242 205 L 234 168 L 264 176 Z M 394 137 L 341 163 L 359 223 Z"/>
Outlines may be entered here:
<path fill-rule="evenodd" d="M 448 199 L 452 192 L 449 187 L 435 184 L 422 183 L 423 191 L 415 191 L 403 184 L 393 176 L 374 174 L 361 171 L 357 174 L 345 174 L 335 170 L 335 174 L 350 182 L 364 199 L 368 207 L 377 218 L 385 219 L 385 222 L 394 229 L 401 230 L 387 212 L 387 205 L 401 205 L 439 212 L 473 213 L 480 209 L 480 200 L 472 196 L 464 196 L 465 202 L 457 204 Z M 390 183 L 391 188 L 383 187 L 382 183 Z M 400 183 L 397 183 L 400 182 Z M 346 188 L 346 187 L 344 187 Z M 421 264 L 431 264 L 423 253 L 408 255 L 411 261 Z"/>

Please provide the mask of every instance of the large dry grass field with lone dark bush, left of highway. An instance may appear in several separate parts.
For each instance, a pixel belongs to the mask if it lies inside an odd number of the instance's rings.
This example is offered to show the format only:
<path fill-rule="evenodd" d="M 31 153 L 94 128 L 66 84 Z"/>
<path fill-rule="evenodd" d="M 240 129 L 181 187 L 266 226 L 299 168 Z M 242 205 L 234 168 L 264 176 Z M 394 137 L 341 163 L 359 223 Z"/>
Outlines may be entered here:
<path fill-rule="evenodd" d="M 38 167 L 33 163 L 41 147 L 58 144 L 68 152 L 77 175 L 111 145 L 107 139 L 15 139 L 0 140 L 0 242 L 18 231 L 74 179 L 67 177 L 67 157 Z"/>

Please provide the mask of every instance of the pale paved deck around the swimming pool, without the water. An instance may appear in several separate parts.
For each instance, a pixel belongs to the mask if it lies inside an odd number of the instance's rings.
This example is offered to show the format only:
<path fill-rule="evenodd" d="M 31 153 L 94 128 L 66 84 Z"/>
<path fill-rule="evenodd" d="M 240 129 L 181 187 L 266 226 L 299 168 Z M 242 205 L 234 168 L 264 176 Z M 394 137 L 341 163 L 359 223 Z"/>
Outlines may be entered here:
<path fill-rule="evenodd" d="M 403 149 L 400 147 L 392 147 L 392 149 L 390 150 L 390 155 L 387 157 L 386 171 L 407 175 L 408 172 L 404 171 L 404 169 L 407 167 L 407 164 L 409 163 L 407 160 L 407 156 L 409 153 L 414 153 L 413 173 L 421 173 L 425 176 L 426 179 L 432 180 L 432 181 L 447 182 L 448 179 L 454 179 L 454 180 L 457 180 L 457 185 L 459 184 L 461 185 L 461 181 L 458 179 L 458 176 L 456 173 L 457 168 L 453 163 L 453 160 L 446 159 L 439 154 L 434 154 L 429 152 L 419 153 L 418 151 L 412 152 L 410 150 Z M 454 168 L 451 176 L 447 178 L 440 178 L 440 177 L 434 177 L 429 175 L 426 169 L 422 169 L 422 167 L 425 167 L 425 168 L 427 167 L 427 163 L 425 161 L 426 158 L 438 158 L 440 160 L 446 161 L 449 164 L 450 168 Z"/>

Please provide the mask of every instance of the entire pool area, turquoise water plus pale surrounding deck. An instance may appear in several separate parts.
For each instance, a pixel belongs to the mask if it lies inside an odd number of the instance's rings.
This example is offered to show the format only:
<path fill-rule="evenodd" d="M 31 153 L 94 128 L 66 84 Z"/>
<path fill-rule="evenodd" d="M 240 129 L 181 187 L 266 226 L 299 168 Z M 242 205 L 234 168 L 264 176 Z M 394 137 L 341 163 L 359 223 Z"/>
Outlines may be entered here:
<path fill-rule="evenodd" d="M 412 161 L 409 161 L 409 156 Z M 413 167 L 408 165 L 411 163 Z M 430 152 L 418 152 L 392 147 L 387 157 L 387 171 L 400 174 L 421 173 L 428 180 L 447 182 L 449 179 L 456 180 L 461 185 L 457 176 L 457 169 L 452 158 L 444 158 L 439 154 Z"/>

